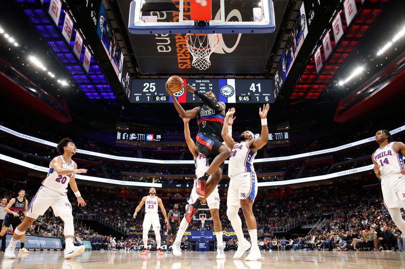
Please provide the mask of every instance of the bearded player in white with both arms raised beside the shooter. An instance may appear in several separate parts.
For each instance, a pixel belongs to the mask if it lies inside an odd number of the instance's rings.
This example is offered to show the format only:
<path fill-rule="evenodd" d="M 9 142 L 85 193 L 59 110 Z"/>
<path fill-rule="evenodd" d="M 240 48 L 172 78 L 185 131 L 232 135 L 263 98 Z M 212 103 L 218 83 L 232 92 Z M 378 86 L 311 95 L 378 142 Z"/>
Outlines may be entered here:
<path fill-rule="evenodd" d="M 265 146 L 268 141 L 267 112 L 269 108 L 269 104 L 266 104 L 263 105 L 263 110 L 259 109 L 262 121 L 262 133 L 258 139 L 254 139 L 251 131 L 245 131 L 240 135 L 240 143 L 236 143 L 228 134 L 228 119 L 235 114 L 233 107 L 226 113 L 224 127 L 222 128 L 222 137 L 228 147 L 232 148 L 228 165 L 230 181 L 226 201 L 228 207 L 226 214 L 238 239 L 238 248 L 233 255 L 234 259 L 239 259 L 251 247 L 251 244 L 245 239 L 242 232 L 242 222 L 238 214 L 240 207 L 244 213 L 252 242 L 252 249 L 246 260 L 258 260 L 261 258 L 257 245 L 256 218 L 253 214 L 253 201 L 257 194 L 257 177 L 253 167 L 253 160 L 257 151 Z"/>

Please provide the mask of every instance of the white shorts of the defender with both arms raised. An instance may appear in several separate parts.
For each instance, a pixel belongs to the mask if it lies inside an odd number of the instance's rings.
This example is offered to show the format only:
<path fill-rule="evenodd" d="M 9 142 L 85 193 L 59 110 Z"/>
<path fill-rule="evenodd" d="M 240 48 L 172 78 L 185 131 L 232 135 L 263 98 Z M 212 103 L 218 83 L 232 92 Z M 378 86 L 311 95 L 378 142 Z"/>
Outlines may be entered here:
<path fill-rule="evenodd" d="M 227 206 L 240 206 L 239 200 L 255 201 L 257 195 L 257 177 L 255 172 L 239 173 L 229 181 Z"/>

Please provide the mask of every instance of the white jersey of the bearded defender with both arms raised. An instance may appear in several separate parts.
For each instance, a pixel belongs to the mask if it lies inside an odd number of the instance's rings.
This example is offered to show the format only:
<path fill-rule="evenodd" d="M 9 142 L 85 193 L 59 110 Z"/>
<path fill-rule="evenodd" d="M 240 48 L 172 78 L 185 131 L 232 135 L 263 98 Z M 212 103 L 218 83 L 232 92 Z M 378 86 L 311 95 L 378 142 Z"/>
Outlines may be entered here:
<path fill-rule="evenodd" d="M 249 142 L 235 144 L 229 157 L 228 176 L 232 178 L 239 173 L 255 172 L 253 167 L 255 156 L 256 153 L 249 148 Z"/>

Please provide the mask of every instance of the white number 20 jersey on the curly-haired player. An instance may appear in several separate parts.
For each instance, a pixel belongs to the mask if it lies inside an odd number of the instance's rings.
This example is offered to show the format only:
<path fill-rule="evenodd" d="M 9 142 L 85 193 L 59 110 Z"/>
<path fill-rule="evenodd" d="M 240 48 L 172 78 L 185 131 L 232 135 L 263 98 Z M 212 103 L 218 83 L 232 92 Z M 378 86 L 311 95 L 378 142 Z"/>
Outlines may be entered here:
<path fill-rule="evenodd" d="M 70 163 L 66 163 L 65 158 L 62 155 L 57 156 L 57 158 L 62 159 L 62 167 L 66 169 L 74 169 L 74 162 L 73 160 L 70 160 Z M 66 194 L 67 193 L 67 187 L 69 185 L 69 181 L 71 177 L 73 177 L 74 174 L 69 174 L 69 175 L 58 175 L 56 170 L 54 168 L 49 168 L 48 176 L 44 181 L 42 182 L 42 185 L 48 189 L 51 189 L 53 191 L 56 191 L 60 194 Z"/>

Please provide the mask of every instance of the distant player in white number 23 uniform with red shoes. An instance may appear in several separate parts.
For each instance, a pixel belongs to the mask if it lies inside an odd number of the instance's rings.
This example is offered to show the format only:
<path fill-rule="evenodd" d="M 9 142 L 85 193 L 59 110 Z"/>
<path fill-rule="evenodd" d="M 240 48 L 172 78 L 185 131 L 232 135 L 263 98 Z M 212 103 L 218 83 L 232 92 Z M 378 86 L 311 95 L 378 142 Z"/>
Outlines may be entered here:
<path fill-rule="evenodd" d="M 159 221 L 159 214 L 157 213 L 157 205 L 160 206 L 161 212 L 163 213 L 163 216 L 165 217 L 166 225 L 169 225 L 169 221 L 168 221 L 168 217 L 167 217 L 168 214 L 166 213 L 165 206 L 161 202 L 161 199 L 159 197 L 157 197 L 155 194 L 156 194 L 155 188 L 150 188 L 149 195 L 144 196 L 142 198 L 141 202 L 136 207 L 135 213 L 134 213 L 134 219 L 136 219 L 136 215 L 138 214 L 139 210 L 141 210 L 141 207 L 143 206 L 143 204 L 145 204 L 145 217 L 143 219 L 143 224 L 142 224 L 143 251 L 142 251 L 141 255 L 146 255 L 149 253 L 148 232 L 149 232 L 151 225 L 153 225 L 153 231 L 155 232 L 155 236 L 156 236 L 157 253 L 159 255 L 163 255 L 163 252 L 161 251 L 161 248 L 160 248 L 160 243 L 161 243 L 160 221 Z"/>

